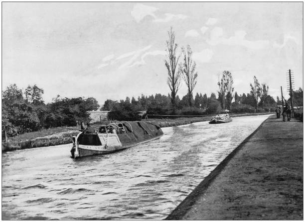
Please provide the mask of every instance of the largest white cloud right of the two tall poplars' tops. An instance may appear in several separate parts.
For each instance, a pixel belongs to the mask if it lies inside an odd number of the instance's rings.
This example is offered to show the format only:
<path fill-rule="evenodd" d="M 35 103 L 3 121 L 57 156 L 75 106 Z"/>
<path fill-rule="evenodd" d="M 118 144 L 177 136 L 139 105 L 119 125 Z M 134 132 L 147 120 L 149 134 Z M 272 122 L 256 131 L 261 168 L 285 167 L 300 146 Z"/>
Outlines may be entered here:
<path fill-rule="evenodd" d="M 269 40 L 257 40 L 249 41 L 245 39 L 247 33 L 243 30 L 236 31 L 234 36 L 230 38 L 223 37 L 223 29 L 220 27 L 215 27 L 210 33 L 210 39 L 207 40 L 209 45 L 241 45 L 250 49 L 263 49 L 269 45 Z"/>

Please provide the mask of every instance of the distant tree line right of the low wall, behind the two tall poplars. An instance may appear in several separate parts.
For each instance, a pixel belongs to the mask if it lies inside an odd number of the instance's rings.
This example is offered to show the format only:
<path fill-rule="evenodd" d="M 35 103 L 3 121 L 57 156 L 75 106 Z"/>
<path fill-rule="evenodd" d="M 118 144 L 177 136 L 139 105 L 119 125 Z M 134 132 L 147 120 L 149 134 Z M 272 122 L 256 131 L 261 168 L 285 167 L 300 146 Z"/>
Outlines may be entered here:
<path fill-rule="evenodd" d="M 269 95 L 269 86 L 266 83 L 260 84 L 256 76 L 254 82 L 250 83 L 250 92 L 238 95 L 235 92 L 233 97 L 233 77 L 229 71 L 224 71 L 221 79 L 218 81 L 218 98 L 215 93 L 210 97 L 206 94 L 196 93 L 195 98 L 187 93 L 179 98 L 175 97 L 176 115 L 204 115 L 218 114 L 221 112 L 264 112 L 271 109 L 273 111 L 277 102 Z M 232 100 L 234 98 L 234 102 Z M 106 100 L 101 110 L 110 110 L 109 118 L 116 120 L 136 120 L 140 111 L 147 111 L 147 114 L 171 115 L 172 114 L 172 95 L 155 94 L 139 96 L 136 100 L 126 97 L 120 102 Z"/>

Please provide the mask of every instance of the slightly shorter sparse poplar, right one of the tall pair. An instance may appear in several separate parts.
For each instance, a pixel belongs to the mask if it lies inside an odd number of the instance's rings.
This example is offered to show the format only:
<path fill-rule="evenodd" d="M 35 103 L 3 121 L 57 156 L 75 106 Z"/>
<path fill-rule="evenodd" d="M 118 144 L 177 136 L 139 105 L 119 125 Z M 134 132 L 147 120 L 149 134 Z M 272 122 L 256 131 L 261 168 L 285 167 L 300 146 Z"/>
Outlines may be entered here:
<path fill-rule="evenodd" d="M 182 47 L 183 63 L 180 65 L 180 72 L 182 73 L 183 80 L 187 86 L 187 95 L 189 106 L 192 106 L 191 97 L 194 87 L 197 83 L 196 63 L 192 60 L 192 50 L 189 45 L 186 50 Z"/>

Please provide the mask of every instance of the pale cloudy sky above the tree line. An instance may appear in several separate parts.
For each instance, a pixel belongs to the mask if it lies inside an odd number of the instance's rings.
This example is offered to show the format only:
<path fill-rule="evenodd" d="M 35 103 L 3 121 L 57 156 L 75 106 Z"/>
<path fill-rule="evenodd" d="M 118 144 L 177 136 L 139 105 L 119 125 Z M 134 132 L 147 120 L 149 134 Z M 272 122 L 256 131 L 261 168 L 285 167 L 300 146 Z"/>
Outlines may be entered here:
<path fill-rule="evenodd" d="M 217 93 L 225 70 L 238 94 L 255 75 L 288 99 L 289 69 L 303 88 L 303 2 L 2 2 L 2 90 L 37 84 L 45 102 L 81 96 L 101 105 L 167 95 L 170 27 L 178 54 L 193 51 L 194 95 Z M 181 79 L 179 97 L 186 92 Z"/>

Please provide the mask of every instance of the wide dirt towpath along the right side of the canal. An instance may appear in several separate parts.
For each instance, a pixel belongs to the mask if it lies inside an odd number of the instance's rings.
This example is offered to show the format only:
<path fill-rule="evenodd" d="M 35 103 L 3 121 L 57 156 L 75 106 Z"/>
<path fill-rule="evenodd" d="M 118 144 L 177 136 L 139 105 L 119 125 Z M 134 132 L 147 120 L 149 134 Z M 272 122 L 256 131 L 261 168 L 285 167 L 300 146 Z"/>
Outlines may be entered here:
<path fill-rule="evenodd" d="M 165 220 L 303 220 L 303 122 L 271 116 Z"/>

